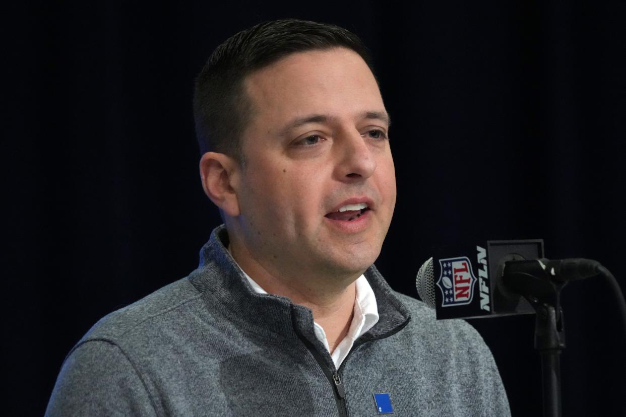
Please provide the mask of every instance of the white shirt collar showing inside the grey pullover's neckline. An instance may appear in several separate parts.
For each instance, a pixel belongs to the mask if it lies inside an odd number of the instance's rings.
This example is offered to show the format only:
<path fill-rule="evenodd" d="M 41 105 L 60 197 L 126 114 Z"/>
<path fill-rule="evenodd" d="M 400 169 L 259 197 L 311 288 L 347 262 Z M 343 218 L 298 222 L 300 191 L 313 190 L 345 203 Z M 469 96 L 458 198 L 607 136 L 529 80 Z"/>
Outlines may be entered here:
<path fill-rule="evenodd" d="M 255 283 L 254 279 L 250 278 L 250 276 L 246 274 L 243 269 L 242 272 L 244 273 L 245 278 L 248 279 L 248 282 L 252 286 L 252 289 L 254 289 L 255 293 L 267 294 L 267 291 L 261 288 L 259 284 Z M 367 282 L 365 276 L 361 275 L 356 280 L 356 297 L 354 298 L 354 316 L 352 317 L 352 323 L 346 333 L 346 337 L 344 337 L 344 339 L 337 344 L 334 351 L 331 352 L 328 339 L 326 338 L 326 332 L 324 332 L 322 326 L 315 322 L 313 323 L 315 326 L 315 335 L 319 341 L 324 343 L 327 351 L 331 353 L 331 358 L 335 364 L 335 368 L 339 369 L 341 363 L 344 359 L 346 359 L 348 352 L 352 349 L 354 341 L 371 329 L 374 324 L 378 322 L 378 318 L 376 296 L 374 296 L 374 291 L 369 285 L 369 282 Z"/>

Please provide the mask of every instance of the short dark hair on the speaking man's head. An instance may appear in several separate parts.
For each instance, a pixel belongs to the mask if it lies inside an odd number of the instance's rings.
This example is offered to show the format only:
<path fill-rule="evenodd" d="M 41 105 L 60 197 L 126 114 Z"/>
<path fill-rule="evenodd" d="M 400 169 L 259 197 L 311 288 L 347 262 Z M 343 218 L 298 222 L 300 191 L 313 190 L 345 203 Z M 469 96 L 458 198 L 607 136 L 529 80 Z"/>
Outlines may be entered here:
<path fill-rule="evenodd" d="M 244 164 L 241 136 L 253 104 L 245 78 L 293 53 L 351 49 L 374 74 L 371 56 L 356 34 L 332 24 L 284 19 L 257 24 L 218 46 L 195 81 L 193 116 L 200 153 L 227 154 Z"/>

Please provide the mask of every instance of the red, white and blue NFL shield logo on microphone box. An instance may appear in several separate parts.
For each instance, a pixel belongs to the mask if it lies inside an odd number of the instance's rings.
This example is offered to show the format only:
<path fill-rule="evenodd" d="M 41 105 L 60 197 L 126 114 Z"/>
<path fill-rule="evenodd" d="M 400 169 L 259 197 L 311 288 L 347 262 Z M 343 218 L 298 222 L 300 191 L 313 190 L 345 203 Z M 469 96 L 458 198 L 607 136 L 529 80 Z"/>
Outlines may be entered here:
<path fill-rule="evenodd" d="M 442 307 L 462 306 L 474 298 L 476 277 L 471 262 L 465 256 L 439 259 L 441 274 L 436 284 L 443 294 Z"/>

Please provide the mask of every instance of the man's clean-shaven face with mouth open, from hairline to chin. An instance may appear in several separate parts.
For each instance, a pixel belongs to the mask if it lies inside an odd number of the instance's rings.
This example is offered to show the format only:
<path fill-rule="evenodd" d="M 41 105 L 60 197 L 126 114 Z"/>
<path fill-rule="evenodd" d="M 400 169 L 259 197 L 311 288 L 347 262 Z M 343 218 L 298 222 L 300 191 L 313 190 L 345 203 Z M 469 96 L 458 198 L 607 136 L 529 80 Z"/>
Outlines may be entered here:
<path fill-rule="evenodd" d="M 292 278 L 362 273 L 396 203 L 387 113 L 366 63 L 344 48 L 296 53 L 245 88 L 254 110 L 234 188 L 247 251 Z"/>

